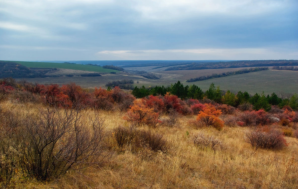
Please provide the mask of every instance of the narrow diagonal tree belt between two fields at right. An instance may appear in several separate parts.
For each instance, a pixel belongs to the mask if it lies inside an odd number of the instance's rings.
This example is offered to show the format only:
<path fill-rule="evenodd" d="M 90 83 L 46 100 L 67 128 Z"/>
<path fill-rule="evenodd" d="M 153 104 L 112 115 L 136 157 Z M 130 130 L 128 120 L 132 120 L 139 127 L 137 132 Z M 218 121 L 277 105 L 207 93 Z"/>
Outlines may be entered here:
<path fill-rule="evenodd" d="M 236 70 L 236 71 L 231 71 L 231 72 L 214 73 L 210 76 L 200 76 L 200 77 L 196 77 L 196 78 L 187 79 L 186 82 L 203 81 L 203 80 L 207 80 L 207 79 L 237 75 L 237 74 L 241 74 L 241 73 L 257 72 L 257 71 L 262 71 L 262 70 L 268 70 L 268 67 L 254 67 L 254 68 Z"/>

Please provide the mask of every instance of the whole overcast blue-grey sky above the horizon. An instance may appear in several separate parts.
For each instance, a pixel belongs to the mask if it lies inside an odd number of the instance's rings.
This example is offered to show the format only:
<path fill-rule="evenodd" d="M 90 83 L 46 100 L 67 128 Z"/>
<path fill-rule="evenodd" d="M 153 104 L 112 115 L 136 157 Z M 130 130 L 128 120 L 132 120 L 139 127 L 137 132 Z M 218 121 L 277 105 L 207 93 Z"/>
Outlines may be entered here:
<path fill-rule="evenodd" d="M 298 59 L 297 0 L 0 0 L 0 60 Z"/>

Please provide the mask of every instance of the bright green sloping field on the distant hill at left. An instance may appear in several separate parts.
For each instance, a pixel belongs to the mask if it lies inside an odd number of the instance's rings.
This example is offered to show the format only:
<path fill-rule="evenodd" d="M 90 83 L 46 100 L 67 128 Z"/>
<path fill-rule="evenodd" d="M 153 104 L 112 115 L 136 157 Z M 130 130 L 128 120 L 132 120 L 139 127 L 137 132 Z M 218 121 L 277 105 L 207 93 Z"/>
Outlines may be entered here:
<path fill-rule="evenodd" d="M 22 62 L 22 61 L 5 61 L 5 62 L 22 64 L 27 67 L 52 67 L 52 68 L 83 70 L 83 71 L 101 72 L 101 73 L 120 72 L 118 70 L 105 69 L 101 66 L 91 66 L 91 65 L 85 65 L 85 64 L 67 64 L 67 63 L 54 63 L 54 62 Z"/>

